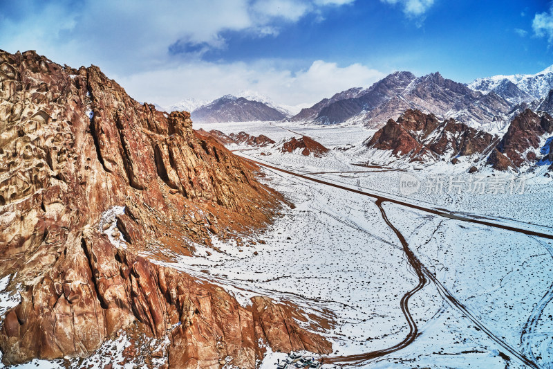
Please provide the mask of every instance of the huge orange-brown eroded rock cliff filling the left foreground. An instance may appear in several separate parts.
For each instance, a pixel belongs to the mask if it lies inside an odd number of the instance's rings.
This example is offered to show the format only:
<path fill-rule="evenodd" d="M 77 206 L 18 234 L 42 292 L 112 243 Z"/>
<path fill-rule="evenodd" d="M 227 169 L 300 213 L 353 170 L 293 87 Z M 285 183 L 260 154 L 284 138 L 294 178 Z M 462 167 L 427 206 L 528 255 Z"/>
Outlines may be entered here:
<path fill-rule="evenodd" d="M 170 368 L 216 368 L 227 356 L 253 368 L 260 340 L 330 352 L 281 305 L 241 307 L 151 262 L 191 254 L 210 233 L 263 226 L 279 206 L 256 168 L 196 134 L 189 114 L 138 104 L 95 66 L 0 51 L 0 132 L 0 276 L 21 293 L 1 324 L 4 363 L 86 357 L 130 325 L 169 336 Z M 261 303 L 275 314 L 259 317 Z M 273 320 L 298 338 L 256 329 Z"/>

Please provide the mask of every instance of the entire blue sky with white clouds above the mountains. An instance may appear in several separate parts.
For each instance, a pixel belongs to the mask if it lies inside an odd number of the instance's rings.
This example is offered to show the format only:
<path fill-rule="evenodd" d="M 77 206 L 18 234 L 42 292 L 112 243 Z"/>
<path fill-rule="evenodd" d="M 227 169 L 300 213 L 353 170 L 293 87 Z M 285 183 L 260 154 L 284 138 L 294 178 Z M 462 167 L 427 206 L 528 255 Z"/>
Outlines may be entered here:
<path fill-rule="evenodd" d="M 396 70 L 470 82 L 553 64 L 550 1 L 0 0 L 0 48 L 96 64 L 138 100 L 310 105 Z"/>

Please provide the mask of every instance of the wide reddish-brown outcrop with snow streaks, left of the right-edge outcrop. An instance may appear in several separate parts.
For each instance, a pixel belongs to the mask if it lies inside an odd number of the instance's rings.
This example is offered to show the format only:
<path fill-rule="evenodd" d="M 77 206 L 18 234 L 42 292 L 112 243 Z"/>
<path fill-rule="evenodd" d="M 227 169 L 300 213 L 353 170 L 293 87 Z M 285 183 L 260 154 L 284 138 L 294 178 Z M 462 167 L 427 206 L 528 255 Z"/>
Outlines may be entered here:
<path fill-rule="evenodd" d="M 391 150 L 393 155 L 404 156 L 409 161 L 427 162 L 445 157 L 482 155 L 489 152 L 497 142 L 497 136 L 453 119 L 440 123 L 433 114 L 407 110 L 397 122 L 388 120 L 364 145 L 378 150 Z"/>

